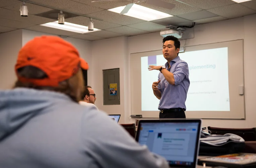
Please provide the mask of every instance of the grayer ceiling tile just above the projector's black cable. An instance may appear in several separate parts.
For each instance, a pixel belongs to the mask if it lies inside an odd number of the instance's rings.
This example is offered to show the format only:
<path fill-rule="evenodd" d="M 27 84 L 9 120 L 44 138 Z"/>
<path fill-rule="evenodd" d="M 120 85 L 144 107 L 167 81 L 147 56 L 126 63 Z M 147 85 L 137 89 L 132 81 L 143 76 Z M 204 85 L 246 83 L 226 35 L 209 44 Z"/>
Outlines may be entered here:
<path fill-rule="evenodd" d="M 218 16 L 218 15 L 208 12 L 206 10 L 178 15 L 178 17 L 181 17 L 187 20 L 199 20 L 199 19 L 210 18 L 215 16 Z"/>

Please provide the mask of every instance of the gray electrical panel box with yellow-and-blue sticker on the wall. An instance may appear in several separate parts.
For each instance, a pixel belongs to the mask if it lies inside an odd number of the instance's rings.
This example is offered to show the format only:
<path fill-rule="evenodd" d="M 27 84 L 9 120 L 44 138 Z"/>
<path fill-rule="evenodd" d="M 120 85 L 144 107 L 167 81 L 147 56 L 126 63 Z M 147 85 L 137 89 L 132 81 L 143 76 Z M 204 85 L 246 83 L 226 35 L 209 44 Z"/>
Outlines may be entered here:
<path fill-rule="evenodd" d="M 120 105 L 119 68 L 103 70 L 103 105 Z"/>

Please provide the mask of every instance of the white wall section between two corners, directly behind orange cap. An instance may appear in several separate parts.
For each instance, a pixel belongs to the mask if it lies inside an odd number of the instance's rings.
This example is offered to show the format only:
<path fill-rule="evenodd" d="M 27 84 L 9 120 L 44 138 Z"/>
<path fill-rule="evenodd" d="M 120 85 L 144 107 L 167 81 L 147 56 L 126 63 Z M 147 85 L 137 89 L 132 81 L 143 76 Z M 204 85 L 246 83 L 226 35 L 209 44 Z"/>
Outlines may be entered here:
<path fill-rule="evenodd" d="M 32 40 L 33 38 L 35 38 L 36 36 L 42 36 L 42 35 L 52 35 L 52 34 L 23 29 L 22 30 L 22 46 L 26 44 L 29 40 Z M 80 54 L 80 57 L 82 57 L 88 63 L 89 70 L 87 71 L 87 80 L 88 80 L 88 85 L 90 85 L 92 82 L 92 70 L 90 67 L 90 65 L 92 64 L 91 42 L 87 40 L 75 39 L 70 37 L 64 38 L 64 40 L 73 44 L 77 48 Z"/>

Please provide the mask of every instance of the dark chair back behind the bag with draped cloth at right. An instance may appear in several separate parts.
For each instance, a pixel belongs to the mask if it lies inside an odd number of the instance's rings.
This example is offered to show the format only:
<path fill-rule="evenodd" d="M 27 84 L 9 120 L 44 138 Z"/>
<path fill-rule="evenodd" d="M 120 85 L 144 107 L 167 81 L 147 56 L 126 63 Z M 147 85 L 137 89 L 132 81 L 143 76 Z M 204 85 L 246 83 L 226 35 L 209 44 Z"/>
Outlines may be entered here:
<path fill-rule="evenodd" d="M 217 128 L 208 126 L 211 134 L 224 135 L 227 133 L 241 136 L 245 141 L 256 141 L 256 128 Z"/>

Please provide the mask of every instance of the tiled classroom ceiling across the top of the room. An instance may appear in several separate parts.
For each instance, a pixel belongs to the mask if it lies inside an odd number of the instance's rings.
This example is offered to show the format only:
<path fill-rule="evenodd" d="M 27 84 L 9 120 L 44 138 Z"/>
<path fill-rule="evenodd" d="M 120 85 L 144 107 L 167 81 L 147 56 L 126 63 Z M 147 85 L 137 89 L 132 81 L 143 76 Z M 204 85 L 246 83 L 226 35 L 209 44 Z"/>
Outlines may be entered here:
<path fill-rule="evenodd" d="M 232 0 L 162 0 L 174 3 L 175 7 L 168 10 L 149 5 L 145 2 L 139 5 L 155 9 L 173 15 L 173 17 L 145 21 L 126 15 L 120 15 L 107 9 L 124 6 L 131 0 L 115 0 L 103 2 L 91 2 L 91 0 L 29 0 L 28 17 L 20 16 L 20 0 L 0 0 L 0 33 L 16 29 L 27 29 L 56 35 L 69 36 L 89 41 L 112 38 L 118 36 L 135 36 L 151 32 L 158 32 L 168 25 L 190 26 L 193 22 L 204 24 L 221 20 L 233 19 L 256 13 L 256 0 L 236 3 Z M 35 5 L 33 3 L 39 4 Z M 66 22 L 87 26 L 89 18 L 93 19 L 94 28 L 101 31 L 80 34 L 65 30 L 59 30 L 40 26 L 40 24 L 57 20 L 50 17 L 53 10 L 63 10 L 69 18 Z M 66 16 L 65 14 L 65 16 Z M 81 16 L 82 15 L 82 16 Z M 58 16 L 57 16 L 58 17 Z"/>

